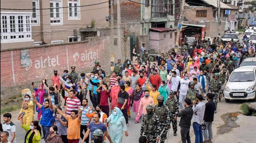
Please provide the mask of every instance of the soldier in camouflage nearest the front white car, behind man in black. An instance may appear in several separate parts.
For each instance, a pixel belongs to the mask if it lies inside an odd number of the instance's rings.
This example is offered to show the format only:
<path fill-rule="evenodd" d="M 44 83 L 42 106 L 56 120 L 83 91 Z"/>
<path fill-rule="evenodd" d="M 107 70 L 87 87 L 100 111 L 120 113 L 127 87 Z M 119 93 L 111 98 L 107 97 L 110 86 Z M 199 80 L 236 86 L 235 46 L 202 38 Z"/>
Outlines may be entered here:
<path fill-rule="evenodd" d="M 219 95 L 222 93 L 222 82 L 219 80 L 219 73 L 214 74 L 214 79 L 211 79 L 208 84 L 208 93 L 214 93 L 213 102 L 215 103 L 215 113 L 217 110 L 217 104 L 219 102 Z"/>

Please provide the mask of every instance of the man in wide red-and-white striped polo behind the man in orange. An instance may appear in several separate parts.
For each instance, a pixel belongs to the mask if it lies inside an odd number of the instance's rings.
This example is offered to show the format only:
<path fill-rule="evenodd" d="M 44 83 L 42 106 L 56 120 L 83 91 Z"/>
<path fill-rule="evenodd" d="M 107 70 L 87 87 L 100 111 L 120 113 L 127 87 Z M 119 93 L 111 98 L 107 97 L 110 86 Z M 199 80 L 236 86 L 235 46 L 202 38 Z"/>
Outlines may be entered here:
<path fill-rule="evenodd" d="M 75 91 L 70 90 L 69 97 L 67 98 L 67 101 L 66 101 L 66 115 L 70 116 L 72 110 L 78 111 L 80 106 L 81 106 L 81 102 L 77 97 L 75 97 Z"/>

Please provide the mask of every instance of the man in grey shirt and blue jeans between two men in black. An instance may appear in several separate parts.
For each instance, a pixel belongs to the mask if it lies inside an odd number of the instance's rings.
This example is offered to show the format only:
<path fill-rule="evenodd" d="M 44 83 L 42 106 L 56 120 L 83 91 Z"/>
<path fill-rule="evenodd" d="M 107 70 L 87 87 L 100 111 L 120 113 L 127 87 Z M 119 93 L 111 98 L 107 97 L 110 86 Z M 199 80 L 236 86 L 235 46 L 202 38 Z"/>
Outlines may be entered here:
<path fill-rule="evenodd" d="M 202 123 L 205 112 L 205 104 L 202 102 L 203 97 L 201 94 L 197 94 L 196 101 L 193 101 L 193 111 L 195 118 L 193 121 L 193 129 L 195 133 L 195 143 L 203 143 L 202 135 Z"/>

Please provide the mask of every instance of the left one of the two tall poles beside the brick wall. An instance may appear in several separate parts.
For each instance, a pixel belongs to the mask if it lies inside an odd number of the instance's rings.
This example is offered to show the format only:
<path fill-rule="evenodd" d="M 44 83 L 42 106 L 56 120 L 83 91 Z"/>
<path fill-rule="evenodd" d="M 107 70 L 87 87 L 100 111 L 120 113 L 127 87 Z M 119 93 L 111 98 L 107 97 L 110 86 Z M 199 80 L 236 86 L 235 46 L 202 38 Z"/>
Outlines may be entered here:
<path fill-rule="evenodd" d="M 114 58 L 114 8 L 113 8 L 113 1 L 110 1 L 110 12 L 111 12 L 111 17 L 110 17 L 110 28 L 111 28 L 111 33 L 110 33 L 110 53 L 111 53 L 111 62 L 115 62 L 115 58 Z M 111 71 L 114 70 L 114 65 L 111 64 Z"/>

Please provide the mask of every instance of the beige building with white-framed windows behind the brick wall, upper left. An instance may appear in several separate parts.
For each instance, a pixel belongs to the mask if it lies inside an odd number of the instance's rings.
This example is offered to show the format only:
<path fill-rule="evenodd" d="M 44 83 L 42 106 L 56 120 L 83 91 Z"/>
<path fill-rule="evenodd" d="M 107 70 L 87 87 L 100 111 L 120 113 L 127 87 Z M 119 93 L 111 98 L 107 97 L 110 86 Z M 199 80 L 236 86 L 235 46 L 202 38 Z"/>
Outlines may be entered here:
<path fill-rule="evenodd" d="M 88 6 L 98 3 L 102 4 Z M 80 41 L 97 35 L 95 28 L 108 27 L 106 0 L 1 0 L 0 4 L 1 49 Z M 80 31 L 86 27 L 94 30 Z"/>

